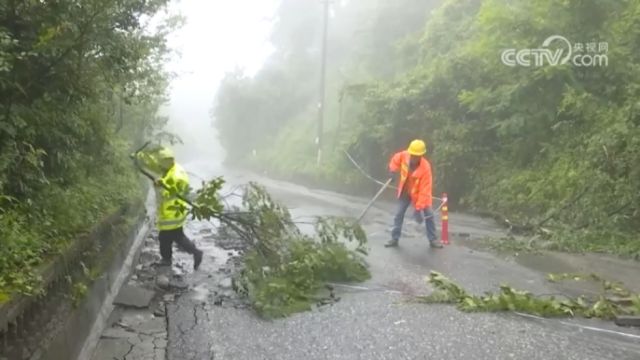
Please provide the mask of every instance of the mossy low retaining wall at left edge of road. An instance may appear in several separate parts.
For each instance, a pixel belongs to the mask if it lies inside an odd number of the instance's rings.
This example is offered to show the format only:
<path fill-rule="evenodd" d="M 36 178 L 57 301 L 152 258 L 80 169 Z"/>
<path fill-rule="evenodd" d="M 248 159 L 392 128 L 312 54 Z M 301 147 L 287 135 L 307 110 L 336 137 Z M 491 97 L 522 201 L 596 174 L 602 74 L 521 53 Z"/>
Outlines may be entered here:
<path fill-rule="evenodd" d="M 0 360 L 88 359 L 150 230 L 153 201 L 151 191 L 123 206 L 44 265 L 43 295 L 0 306 Z"/>

